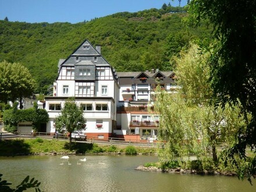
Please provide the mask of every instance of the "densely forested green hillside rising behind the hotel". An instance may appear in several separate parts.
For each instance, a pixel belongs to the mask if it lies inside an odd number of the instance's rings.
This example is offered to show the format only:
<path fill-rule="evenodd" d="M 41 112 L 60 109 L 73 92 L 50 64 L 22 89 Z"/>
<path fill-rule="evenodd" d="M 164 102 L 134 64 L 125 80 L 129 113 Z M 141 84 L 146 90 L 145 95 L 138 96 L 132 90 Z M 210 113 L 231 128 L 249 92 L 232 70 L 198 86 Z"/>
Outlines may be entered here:
<path fill-rule="evenodd" d="M 184 8 L 122 12 L 83 23 L 24 23 L 0 20 L 0 62 L 19 62 L 46 93 L 67 58 L 85 39 L 101 45 L 101 54 L 120 71 L 171 70 L 170 59 L 189 41 L 211 38 L 211 27 L 189 28 Z"/>

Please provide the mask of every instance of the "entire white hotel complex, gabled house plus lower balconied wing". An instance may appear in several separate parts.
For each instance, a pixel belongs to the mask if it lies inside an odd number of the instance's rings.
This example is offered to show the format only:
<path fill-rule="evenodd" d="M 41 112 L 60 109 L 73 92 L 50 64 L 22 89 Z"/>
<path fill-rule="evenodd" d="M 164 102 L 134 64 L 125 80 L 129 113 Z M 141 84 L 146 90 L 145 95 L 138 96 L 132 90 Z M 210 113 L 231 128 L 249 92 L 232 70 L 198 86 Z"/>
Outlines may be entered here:
<path fill-rule="evenodd" d="M 101 47 L 86 40 L 67 58 L 59 61 L 52 97 L 45 97 L 49 114 L 46 131 L 55 133 L 55 119 L 67 98 L 83 106 L 88 138 L 157 138 L 158 115 L 149 114 L 147 105 L 154 88 L 175 88 L 173 72 L 115 72 L 102 57 Z"/>

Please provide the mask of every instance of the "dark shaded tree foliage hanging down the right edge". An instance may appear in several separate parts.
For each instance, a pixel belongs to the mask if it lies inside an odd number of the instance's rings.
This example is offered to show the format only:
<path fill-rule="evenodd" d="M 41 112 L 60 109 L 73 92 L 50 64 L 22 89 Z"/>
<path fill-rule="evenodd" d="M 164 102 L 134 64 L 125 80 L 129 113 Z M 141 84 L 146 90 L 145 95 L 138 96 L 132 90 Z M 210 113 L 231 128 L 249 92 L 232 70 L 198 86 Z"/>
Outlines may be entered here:
<path fill-rule="evenodd" d="M 192 0 L 189 3 L 191 21 L 200 24 L 208 20 L 214 25 L 214 37 L 218 41 L 212 51 L 212 87 L 222 106 L 227 102 L 241 102 L 244 113 L 250 112 L 252 119 L 244 133 L 237 134 L 237 142 L 227 151 L 228 159 L 239 165 L 234 156 L 249 161 L 246 148 L 256 153 L 256 2 L 254 0 Z M 228 160 L 227 159 L 227 160 Z M 238 166 L 239 168 L 239 166 Z M 251 181 L 256 175 L 256 155 L 246 168 L 241 168 L 240 178 Z"/>

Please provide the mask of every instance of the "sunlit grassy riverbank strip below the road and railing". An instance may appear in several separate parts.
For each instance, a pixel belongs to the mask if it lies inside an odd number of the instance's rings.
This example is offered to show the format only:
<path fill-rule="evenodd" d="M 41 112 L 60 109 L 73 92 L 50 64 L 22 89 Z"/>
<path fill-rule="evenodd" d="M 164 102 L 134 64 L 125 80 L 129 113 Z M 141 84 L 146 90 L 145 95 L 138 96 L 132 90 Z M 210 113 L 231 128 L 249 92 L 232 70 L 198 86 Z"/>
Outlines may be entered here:
<path fill-rule="evenodd" d="M 127 152 L 127 150 L 132 152 L 129 154 L 154 154 L 156 151 L 156 149 L 153 148 L 133 146 L 119 147 L 116 145 L 98 145 L 95 143 L 79 142 L 72 142 L 70 146 L 69 141 L 44 140 L 42 138 L 0 141 L 0 156 L 28 155 L 47 152 L 93 154 L 101 152 Z"/>

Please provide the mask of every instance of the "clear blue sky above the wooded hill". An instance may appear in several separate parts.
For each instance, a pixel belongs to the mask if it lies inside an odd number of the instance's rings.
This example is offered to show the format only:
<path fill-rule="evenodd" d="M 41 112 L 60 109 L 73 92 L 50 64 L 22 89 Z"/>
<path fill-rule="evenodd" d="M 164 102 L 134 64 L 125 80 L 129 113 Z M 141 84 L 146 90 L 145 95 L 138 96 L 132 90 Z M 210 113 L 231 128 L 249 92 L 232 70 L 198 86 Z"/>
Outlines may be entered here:
<path fill-rule="evenodd" d="M 0 0 L 0 20 L 7 16 L 10 22 L 79 23 L 118 12 L 160 9 L 169 2 L 179 6 L 178 0 Z"/>

